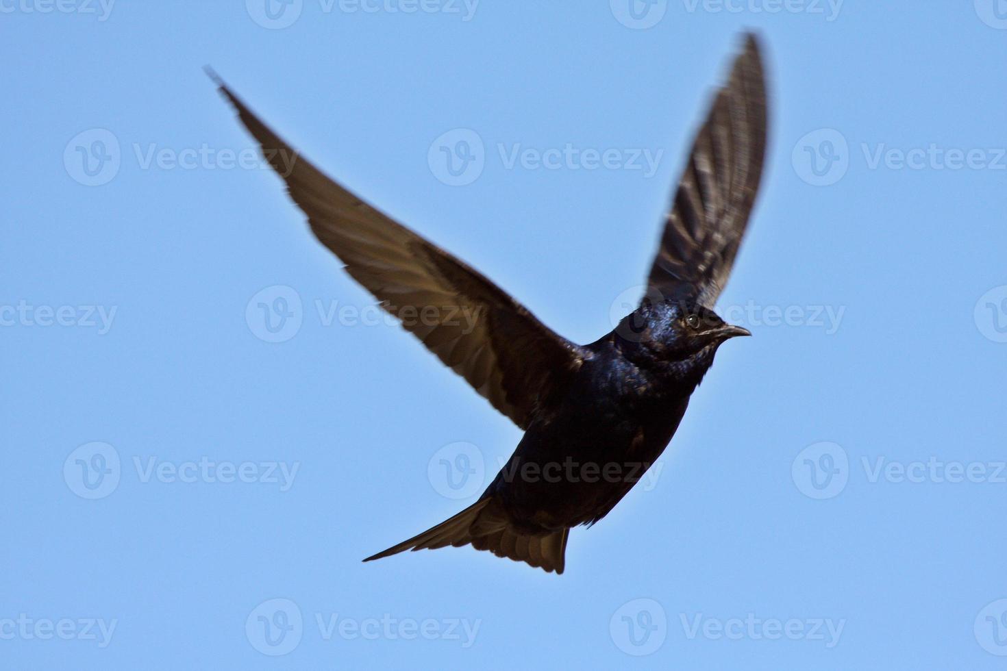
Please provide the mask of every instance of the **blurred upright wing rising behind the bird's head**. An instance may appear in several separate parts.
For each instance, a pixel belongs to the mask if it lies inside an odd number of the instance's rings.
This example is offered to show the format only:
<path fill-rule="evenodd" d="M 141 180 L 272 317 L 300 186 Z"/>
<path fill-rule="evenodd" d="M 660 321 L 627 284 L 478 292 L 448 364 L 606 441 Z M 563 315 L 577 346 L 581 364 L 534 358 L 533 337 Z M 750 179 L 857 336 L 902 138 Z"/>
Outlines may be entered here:
<path fill-rule="evenodd" d="M 749 34 L 693 145 L 649 278 L 649 296 L 696 301 L 720 295 L 762 174 L 765 80 Z"/>

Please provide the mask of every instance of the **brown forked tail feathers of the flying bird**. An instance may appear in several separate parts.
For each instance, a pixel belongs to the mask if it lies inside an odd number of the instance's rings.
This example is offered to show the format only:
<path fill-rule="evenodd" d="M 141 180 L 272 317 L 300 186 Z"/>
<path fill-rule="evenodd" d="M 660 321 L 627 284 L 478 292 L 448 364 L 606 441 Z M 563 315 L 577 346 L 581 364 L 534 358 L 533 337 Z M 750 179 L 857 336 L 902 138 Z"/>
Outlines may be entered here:
<path fill-rule="evenodd" d="M 506 519 L 493 514 L 492 499 L 476 501 L 460 513 L 398 545 L 369 556 L 365 561 L 381 559 L 405 550 L 460 547 L 471 544 L 477 550 L 489 550 L 499 557 L 562 573 L 566 563 L 569 529 L 546 534 L 527 534 L 512 529 Z"/>

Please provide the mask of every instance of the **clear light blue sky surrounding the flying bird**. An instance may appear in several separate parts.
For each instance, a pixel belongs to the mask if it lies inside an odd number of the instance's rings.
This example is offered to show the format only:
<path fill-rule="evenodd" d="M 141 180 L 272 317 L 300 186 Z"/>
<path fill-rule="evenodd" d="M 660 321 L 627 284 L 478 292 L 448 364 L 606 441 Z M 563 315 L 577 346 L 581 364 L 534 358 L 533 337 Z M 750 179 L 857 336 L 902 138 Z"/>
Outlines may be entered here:
<path fill-rule="evenodd" d="M 1002 666 L 1002 0 L 271 1 L 0 2 L 4 668 Z M 521 434 L 374 311 L 201 67 L 588 342 L 745 28 L 771 145 L 719 307 L 755 337 L 564 575 L 361 563 Z"/>

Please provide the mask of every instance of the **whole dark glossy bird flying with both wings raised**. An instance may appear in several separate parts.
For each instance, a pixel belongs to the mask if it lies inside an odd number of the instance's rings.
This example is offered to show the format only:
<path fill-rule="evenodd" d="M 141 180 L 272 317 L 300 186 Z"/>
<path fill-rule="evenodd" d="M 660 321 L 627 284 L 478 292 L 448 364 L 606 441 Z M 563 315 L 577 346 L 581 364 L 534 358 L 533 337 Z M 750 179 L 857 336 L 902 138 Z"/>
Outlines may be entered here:
<path fill-rule="evenodd" d="M 554 333 L 478 271 L 297 156 L 210 76 L 318 240 L 525 432 L 478 501 L 365 561 L 471 545 L 562 573 L 570 529 L 600 520 L 639 481 L 671 442 L 717 348 L 751 335 L 726 324 L 713 306 L 762 172 L 766 95 L 754 35 L 746 36 L 695 138 L 643 299 L 587 345 Z"/>

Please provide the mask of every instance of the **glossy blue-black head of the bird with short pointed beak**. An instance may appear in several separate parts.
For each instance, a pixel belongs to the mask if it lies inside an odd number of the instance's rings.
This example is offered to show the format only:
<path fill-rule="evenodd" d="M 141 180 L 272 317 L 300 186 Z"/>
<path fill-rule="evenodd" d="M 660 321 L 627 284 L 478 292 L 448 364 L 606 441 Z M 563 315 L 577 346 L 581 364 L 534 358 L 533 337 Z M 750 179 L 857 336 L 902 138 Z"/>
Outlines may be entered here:
<path fill-rule="evenodd" d="M 695 302 L 649 301 L 626 315 L 615 329 L 624 348 L 655 361 L 696 361 L 709 365 L 726 340 L 751 333 L 726 323 Z"/>

